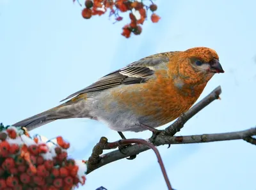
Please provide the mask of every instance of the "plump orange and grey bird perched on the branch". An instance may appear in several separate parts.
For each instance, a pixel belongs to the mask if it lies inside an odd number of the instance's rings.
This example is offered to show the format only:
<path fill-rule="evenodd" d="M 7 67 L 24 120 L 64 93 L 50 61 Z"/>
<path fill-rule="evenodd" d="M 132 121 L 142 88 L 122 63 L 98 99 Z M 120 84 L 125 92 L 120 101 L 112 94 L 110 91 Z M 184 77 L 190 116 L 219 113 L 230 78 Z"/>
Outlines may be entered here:
<path fill-rule="evenodd" d="M 115 131 L 144 131 L 173 121 L 198 99 L 215 73 L 224 73 L 211 48 L 155 54 L 109 73 L 65 103 L 13 126 L 28 130 L 57 119 L 90 118 Z"/>

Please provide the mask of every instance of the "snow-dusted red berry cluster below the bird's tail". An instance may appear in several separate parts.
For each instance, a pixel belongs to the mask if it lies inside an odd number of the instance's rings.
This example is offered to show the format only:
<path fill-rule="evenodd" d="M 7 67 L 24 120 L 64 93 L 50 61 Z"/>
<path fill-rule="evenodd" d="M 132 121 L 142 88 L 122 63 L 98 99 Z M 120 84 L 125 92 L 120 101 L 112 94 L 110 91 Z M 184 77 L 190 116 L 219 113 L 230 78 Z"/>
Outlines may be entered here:
<path fill-rule="evenodd" d="M 0 126 L 0 189 L 69 190 L 84 184 L 86 164 L 67 158 L 61 136 L 44 142 L 20 128 Z"/>

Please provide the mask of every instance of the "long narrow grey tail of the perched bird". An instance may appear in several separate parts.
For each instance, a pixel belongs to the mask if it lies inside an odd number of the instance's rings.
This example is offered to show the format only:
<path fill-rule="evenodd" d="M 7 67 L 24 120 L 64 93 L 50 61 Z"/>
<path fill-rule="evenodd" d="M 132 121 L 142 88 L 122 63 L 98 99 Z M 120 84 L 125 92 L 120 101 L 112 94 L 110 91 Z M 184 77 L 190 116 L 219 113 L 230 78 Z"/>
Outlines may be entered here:
<path fill-rule="evenodd" d="M 28 131 L 31 131 L 32 129 L 39 128 L 40 126 L 43 126 L 44 124 L 55 121 L 57 119 L 79 117 L 79 115 L 81 115 L 81 111 L 81 105 L 69 104 L 67 102 L 45 112 L 38 113 L 37 115 L 17 122 L 12 126 L 25 127 L 28 129 Z"/>

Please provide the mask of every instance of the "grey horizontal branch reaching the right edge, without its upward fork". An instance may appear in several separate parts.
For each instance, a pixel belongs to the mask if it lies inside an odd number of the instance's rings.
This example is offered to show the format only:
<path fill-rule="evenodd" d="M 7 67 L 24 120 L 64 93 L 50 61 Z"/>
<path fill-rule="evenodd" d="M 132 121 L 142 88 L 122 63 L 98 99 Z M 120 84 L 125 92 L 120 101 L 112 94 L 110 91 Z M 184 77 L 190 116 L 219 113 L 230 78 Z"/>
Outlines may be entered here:
<path fill-rule="evenodd" d="M 256 127 L 247 129 L 244 131 L 236 131 L 231 133 L 216 133 L 216 134 L 205 134 L 205 135 L 189 135 L 189 136 L 157 136 L 155 145 L 166 145 L 166 144 L 187 144 L 187 143 L 206 143 L 206 142 L 218 142 L 227 140 L 239 140 L 245 139 L 248 136 L 256 135 Z M 110 147 L 109 147 L 110 148 Z M 139 154 L 148 150 L 149 148 L 145 145 L 131 145 L 125 149 L 126 154 L 122 154 L 119 150 L 114 150 L 99 156 L 99 163 L 88 165 L 88 172 L 90 173 L 101 166 L 112 163 L 119 159 Z M 100 155 L 100 154 L 99 154 Z M 90 159 L 89 159 L 90 160 Z"/>

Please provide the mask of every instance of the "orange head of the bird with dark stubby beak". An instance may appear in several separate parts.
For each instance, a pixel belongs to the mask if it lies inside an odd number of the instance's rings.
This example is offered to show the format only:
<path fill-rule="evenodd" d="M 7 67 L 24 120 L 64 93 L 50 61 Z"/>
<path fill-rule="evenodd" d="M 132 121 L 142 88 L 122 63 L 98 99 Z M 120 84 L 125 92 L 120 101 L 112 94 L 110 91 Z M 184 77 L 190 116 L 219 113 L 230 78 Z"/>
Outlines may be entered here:
<path fill-rule="evenodd" d="M 195 78 L 195 80 L 208 81 L 215 73 L 224 73 L 218 54 L 211 48 L 190 48 L 182 52 L 179 60 L 180 75 L 190 80 Z"/>

